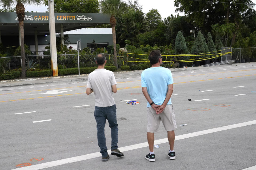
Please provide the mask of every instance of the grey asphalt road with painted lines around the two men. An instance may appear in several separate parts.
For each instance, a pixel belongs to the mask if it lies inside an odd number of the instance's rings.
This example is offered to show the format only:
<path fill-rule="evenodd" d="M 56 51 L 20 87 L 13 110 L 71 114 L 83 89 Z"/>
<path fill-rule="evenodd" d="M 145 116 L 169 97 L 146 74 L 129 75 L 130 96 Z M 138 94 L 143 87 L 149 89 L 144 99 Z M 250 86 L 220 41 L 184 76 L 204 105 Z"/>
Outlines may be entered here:
<path fill-rule="evenodd" d="M 85 94 L 87 75 L 2 81 L 0 169 L 256 169 L 256 63 L 171 71 L 175 160 L 167 156 L 162 124 L 155 133 L 156 161 L 145 159 L 146 99 L 141 71 L 133 71 L 115 73 L 118 146 L 125 156 L 110 155 L 107 162 L 97 143 L 94 95 Z M 108 124 L 105 134 L 110 149 Z"/>

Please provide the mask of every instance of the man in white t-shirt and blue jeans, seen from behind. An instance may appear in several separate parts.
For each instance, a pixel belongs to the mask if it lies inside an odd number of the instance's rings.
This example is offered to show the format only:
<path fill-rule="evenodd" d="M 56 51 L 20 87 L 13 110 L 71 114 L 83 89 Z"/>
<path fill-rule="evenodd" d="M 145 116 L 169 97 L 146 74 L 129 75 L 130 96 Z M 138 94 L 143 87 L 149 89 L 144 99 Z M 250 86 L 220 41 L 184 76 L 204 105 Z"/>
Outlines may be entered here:
<path fill-rule="evenodd" d="M 94 92 L 95 95 L 94 117 L 97 122 L 98 145 L 101 148 L 102 161 L 109 159 L 104 131 L 106 120 L 109 122 L 109 127 L 111 128 L 111 155 L 118 157 L 124 156 L 124 154 L 117 149 L 117 108 L 112 93 L 117 92 L 117 82 L 114 73 L 104 69 L 106 62 L 106 57 L 103 54 L 98 54 L 96 57 L 98 68 L 89 74 L 86 88 L 87 95 L 92 92 Z"/>

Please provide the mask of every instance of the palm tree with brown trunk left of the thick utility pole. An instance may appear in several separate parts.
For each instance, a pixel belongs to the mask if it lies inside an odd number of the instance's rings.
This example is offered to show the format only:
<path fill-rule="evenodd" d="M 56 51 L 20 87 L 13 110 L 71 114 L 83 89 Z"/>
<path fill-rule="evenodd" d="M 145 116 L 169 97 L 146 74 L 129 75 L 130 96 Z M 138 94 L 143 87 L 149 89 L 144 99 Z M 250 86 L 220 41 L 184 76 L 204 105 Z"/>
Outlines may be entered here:
<path fill-rule="evenodd" d="M 16 4 L 15 10 L 18 16 L 19 28 L 21 32 L 21 77 L 26 77 L 26 58 L 25 58 L 25 47 L 24 47 L 24 17 L 25 17 L 25 7 L 23 3 L 29 5 L 41 5 L 44 0 L 0 0 L 0 5 L 3 8 L 8 9 Z"/>

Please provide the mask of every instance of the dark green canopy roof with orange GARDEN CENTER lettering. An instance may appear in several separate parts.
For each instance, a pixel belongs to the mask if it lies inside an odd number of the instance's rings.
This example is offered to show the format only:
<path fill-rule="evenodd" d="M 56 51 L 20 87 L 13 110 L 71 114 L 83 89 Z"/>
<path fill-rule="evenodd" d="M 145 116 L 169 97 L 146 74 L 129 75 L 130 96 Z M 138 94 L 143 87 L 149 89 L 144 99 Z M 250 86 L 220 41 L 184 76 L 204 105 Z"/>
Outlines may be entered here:
<path fill-rule="evenodd" d="M 54 13 L 56 33 L 71 31 L 74 29 L 92 27 L 95 25 L 109 23 L 110 16 L 98 13 Z M 16 12 L 0 12 L 1 35 L 18 35 L 18 17 Z M 59 26 L 58 26 L 59 25 Z M 25 12 L 24 33 L 26 35 L 49 34 L 49 14 L 48 12 Z"/>

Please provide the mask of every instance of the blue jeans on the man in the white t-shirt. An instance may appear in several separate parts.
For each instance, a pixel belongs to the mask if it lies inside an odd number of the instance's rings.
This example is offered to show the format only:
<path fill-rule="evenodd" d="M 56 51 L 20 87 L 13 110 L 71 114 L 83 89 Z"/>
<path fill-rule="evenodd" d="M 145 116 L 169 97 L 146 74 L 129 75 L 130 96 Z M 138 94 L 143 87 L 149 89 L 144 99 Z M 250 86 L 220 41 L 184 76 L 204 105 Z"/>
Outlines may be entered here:
<path fill-rule="evenodd" d="M 101 148 L 102 157 L 107 157 L 107 146 L 105 137 L 106 120 L 111 128 L 111 150 L 117 149 L 118 143 L 118 124 L 117 124 L 117 107 L 115 104 L 110 107 L 95 106 L 94 117 L 97 122 L 98 145 Z"/>

